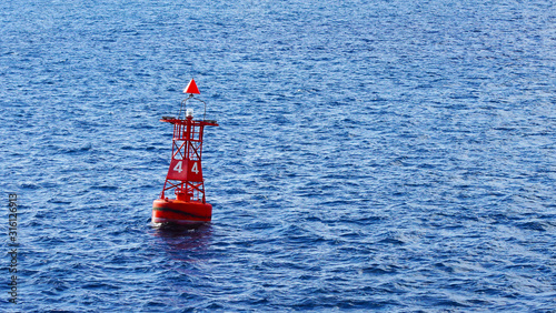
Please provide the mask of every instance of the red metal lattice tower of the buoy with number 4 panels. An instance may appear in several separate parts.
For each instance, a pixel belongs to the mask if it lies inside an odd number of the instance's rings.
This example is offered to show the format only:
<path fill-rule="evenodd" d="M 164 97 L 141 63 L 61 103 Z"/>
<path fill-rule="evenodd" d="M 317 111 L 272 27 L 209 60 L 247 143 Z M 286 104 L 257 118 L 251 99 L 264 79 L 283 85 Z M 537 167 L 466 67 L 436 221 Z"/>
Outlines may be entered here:
<path fill-rule="evenodd" d="M 175 189 L 175 194 L 185 201 L 206 203 L 201 166 L 202 132 L 205 127 L 218 124 L 215 121 L 193 121 L 192 117 L 160 121 L 173 124 L 172 158 L 160 199 L 165 199 L 166 191 Z"/>

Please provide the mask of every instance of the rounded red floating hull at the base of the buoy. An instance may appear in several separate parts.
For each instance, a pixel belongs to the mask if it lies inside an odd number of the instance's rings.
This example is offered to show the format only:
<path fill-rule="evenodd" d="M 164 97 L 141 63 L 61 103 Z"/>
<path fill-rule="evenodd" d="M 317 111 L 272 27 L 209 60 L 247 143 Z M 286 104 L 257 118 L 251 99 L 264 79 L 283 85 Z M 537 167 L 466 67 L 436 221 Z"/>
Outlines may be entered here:
<path fill-rule="evenodd" d="M 152 223 L 199 224 L 210 222 L 212 205 L 199 201 L 157 199 L 152 202 Z"/>

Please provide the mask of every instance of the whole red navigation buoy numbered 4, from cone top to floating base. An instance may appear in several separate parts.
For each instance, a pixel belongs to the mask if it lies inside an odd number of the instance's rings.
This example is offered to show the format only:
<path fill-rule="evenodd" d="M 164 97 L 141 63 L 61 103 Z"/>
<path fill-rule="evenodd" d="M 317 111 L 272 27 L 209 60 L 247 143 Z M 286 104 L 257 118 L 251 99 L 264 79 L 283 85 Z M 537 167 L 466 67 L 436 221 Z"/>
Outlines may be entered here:
<path fill-rule="evenodd" d="M 207 103 L 193 98 L 200 94 L 191 79 L 183 90 L 189 98 L 181 102 L 177 118 L 162 117 L 165 123 L 173 124 L 172 154 L 160 198 L 152 203 L 152 223 L 198 224 L 210 222 L 212 205 L 205 199 L 205 182 L 201 168 L 202 133 L 205 127 L 218 127 L 212 120 L 206 120 Z M 202 120 L 193 120 L 192 109 L 186 108 L 190 99 L 205 104 Z M 182 114 L 185 117 L 182 118 Z M 167 192 L 173 190 L 176 199 L 169 199 Z"/>

